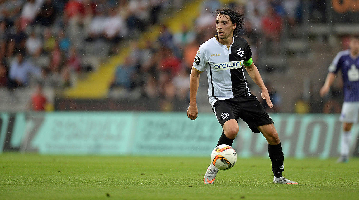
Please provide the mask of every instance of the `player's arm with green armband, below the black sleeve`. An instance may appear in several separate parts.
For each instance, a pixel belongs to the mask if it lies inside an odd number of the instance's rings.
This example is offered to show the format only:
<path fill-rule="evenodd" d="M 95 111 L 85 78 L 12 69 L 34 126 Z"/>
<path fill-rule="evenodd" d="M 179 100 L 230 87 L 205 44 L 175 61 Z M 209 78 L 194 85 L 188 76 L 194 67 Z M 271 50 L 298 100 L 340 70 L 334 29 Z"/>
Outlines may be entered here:
<path fill-rule="evenodd" d="M 257 86 L 259 88 L 261 88 L 262 99 L 265 99 L 268 106 L 270 108 L 273 108 L 274 106 L 272 104 L 272 101 L 269 98 L 268 89 L 264 85 L 261 74 L 259 73 L 256 65 L 253 63 L 252 58 L 250 58 L 250 60 L 247 60 L 246 62 L 244 62 L 244 67 L 246 68 L 246 70 L 247 70 L 248 74 L 250 75 L 250 77 L 252 78 L 252 80 L 257 84 Z"/>

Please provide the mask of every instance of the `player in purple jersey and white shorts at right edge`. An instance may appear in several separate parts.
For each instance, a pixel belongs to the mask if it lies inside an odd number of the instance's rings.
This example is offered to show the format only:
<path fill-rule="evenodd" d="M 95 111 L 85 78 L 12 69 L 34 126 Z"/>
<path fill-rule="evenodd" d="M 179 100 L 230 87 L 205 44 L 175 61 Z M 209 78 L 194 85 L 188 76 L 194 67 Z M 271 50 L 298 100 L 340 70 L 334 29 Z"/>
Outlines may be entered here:
<path fill-rule="evenodd" d="M 344 103 L 341 108 L 340 121 L 343 132 L 340 137 L 340 157 L 337 162 L 348 162 L 351 127 L 358 121 L 359 114 L 359 35 L 351 35 L 349 49 L 339 52 L 329 66 L 329 72 L 320 95 L 325 96 L 341 70 L 344 83 Z"/>

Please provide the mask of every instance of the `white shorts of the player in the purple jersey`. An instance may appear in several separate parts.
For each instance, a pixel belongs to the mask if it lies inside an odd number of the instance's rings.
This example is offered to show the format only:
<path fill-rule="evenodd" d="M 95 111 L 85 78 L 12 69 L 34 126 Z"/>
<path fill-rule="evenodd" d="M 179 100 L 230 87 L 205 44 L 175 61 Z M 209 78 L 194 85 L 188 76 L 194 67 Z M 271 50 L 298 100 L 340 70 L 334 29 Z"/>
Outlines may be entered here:
<path fill-rule="evenodd" d="M 359 116 L 359 102 L 344 102 L 341 108 L 340 121 L 356 123 Z"/>

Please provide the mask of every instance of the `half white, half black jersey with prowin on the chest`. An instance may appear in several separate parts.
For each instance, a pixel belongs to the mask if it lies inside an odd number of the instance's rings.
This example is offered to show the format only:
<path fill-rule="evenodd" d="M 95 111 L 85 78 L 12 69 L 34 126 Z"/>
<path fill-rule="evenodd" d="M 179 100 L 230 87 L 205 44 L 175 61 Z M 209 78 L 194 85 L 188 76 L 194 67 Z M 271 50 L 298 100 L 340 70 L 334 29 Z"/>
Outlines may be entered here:
<path fill-rule="evenodd" d="M 243 64 L 252 64 L 251 56 L 247 41 L 238 36 L 233 36 L 229 49 L 219 43 L 217 36 L 199 47 L 193 67 L 199 72 L 207 71 L 212 107 L 219 100 L 252 95 L 243 71 Z"/>

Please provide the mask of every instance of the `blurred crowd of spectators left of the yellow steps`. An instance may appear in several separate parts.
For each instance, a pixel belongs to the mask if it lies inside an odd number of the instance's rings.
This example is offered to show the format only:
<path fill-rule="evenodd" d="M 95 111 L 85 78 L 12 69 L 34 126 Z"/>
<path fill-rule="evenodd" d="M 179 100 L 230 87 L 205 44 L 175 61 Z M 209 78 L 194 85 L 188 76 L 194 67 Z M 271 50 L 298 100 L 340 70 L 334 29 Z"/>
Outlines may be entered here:
<path fill-rule="evenodd" d="M 177 4 L 175 4 L 178 6 Z M 0 0 L 0 87 L 63 88 L 158 23 L 166 0 Z"/>

